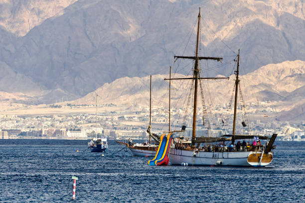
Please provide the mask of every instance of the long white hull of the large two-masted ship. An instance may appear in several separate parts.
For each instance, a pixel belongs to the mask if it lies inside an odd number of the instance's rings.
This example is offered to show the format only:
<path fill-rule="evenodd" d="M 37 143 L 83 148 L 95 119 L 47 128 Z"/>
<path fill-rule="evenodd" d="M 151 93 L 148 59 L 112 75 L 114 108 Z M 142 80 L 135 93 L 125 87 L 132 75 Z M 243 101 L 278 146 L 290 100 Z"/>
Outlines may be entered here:
<path fill-rule="evenodd" d="M 261 153 L 261 152 L 259 152 Z M 169 162 L 172 165 L 188 166 L 258 166 L 263 167 L 271 163 L 248 162 L 248 156 L 255 152 L 197 152 L 170 148 Z M 194 156 L 195 155 L 195 156 Z M 261 154 L 258 154 L 260 156 Z M 270 153 L 272 155 L 272 153 Z"/>

